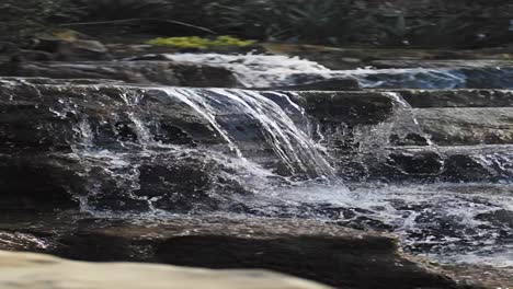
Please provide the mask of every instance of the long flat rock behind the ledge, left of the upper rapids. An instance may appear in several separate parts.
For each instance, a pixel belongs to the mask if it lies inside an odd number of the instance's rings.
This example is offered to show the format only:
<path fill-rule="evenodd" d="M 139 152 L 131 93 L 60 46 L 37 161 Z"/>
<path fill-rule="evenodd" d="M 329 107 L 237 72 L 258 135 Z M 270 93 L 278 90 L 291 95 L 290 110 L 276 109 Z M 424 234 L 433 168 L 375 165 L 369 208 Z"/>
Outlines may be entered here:
<path fill-rule="evenodd" d="M 232 72 L 219 67 L 171 61 L 16 62 L 0 67 L 3 77 L 111 79 L 178 86 L 240 86 Z"/>

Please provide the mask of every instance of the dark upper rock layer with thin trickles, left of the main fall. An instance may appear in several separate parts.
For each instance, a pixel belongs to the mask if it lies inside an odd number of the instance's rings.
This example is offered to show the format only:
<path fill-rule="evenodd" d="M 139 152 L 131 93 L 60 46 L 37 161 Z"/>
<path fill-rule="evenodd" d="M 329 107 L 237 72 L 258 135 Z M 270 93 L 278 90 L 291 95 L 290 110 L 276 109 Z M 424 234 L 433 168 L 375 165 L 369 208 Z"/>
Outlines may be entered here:
<path fill-rule="evenodd" d="M 147 120 L 162 143 L 223 142 L 191 107 L 161 91 L 23 82 L 5 82 L 2 88 L 0 146 L 5 150 L 69 152 L 83 141 L 123 150 L 123 141 L 142 141 L 135 131 L 138 119 Z M 141 102 L 135 105 L 138 97 Z"/>

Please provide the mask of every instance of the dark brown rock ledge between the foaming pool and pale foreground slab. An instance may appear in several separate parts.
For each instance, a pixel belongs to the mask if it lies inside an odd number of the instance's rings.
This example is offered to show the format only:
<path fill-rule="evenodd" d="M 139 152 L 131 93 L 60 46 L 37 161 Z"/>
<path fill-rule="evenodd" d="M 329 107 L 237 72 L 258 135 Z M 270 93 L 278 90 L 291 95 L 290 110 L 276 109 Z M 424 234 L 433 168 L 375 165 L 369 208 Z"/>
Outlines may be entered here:
<path fill-rule="evenodd" d="M 46 240 L 57 242 L 38 252 L 78 259 L 264 268 L 337 288 L 459 288 L 435 267 L 398 253 L 388 236 L 317 221 L 196 217 L 148 226 L 142 220 L 48 220 L 54 235 Z M 31 231 L 38 234 L 38 229 Z"/>

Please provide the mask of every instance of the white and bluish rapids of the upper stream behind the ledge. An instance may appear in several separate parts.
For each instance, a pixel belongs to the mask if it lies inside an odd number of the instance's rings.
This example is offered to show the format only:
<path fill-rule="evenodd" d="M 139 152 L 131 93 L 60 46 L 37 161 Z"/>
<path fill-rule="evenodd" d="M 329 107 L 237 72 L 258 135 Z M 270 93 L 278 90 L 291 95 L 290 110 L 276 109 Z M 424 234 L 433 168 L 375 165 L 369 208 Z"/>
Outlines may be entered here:
<path fill-rule="evenodd" d="M 232 70 L 247 88 L 273 88 L 304 84 L 326 79 L 355 78 L 368 89 L 512 89 L 511 68 L 401 68 L 331 70 L 315 61 L 287 56 L 175 54 L 173 61 L 221 66 Z"/>

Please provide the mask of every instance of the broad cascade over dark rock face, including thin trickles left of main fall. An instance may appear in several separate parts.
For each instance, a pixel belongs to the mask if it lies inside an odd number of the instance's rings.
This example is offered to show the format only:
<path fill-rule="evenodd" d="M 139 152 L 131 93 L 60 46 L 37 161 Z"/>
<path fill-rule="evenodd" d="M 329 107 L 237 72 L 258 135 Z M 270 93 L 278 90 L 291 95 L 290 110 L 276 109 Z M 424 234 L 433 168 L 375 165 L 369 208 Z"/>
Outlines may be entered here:
<path fill-rule="evenodd" d="M 226 198 L 224 190 L 235 198 L 238 193 L 259 192 L 277 183 L 334 177 L 324 149 L 312 140 L 315 124 L 292 100 L 298 97 L 293 93 L 91 86 L 78 91 L 93 91 L 98 97 L 93 102 L 105 102 L 94 105 L 111 105 L 109 114 L 86 112 L 82 103 L 66 97 L 54 100 L 48 106 L 58 122 L 70 125 L 66 138 L 72 152 L 66 152 L 66 158 L 79 163 L 77 175 L 84 187 L 73 194 L 84 211 L 169 212 L 181 198 L 193 204 L 187 205 L 187 210 L 195 205 L 202 208 L 203 201 L 216 207 Z M 191 117 L 187 122 L 202 127 L 195 134 L 202 134 L 200 137 L 214 144 L 200 141 L 182 146 L 159 140 L 162 120 L 140 109 L 146 95 L 156 92 L 163 92 L 155 97 L 182 109 L 181 114 Z M 86 101 L 87 105 L 91 105 L 89 102 Z M 166 122 L 173 125 L 172 119 Z M 194 126 L 192 129 L 197 129 Z M 195 175 L 182 175 L 184 171 Z M 189 177 L 193 180 L 187 181 Z M 191 185 L 185 188 L 181 184 L 186 182 Z M 190 199 L 194 197 L 187 194 L 205 200 L 194 204 Z M 224 203 L 223 206 L 230 206 L 231 200 Z"/>

